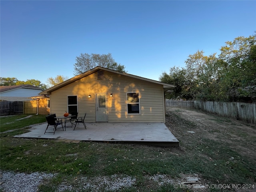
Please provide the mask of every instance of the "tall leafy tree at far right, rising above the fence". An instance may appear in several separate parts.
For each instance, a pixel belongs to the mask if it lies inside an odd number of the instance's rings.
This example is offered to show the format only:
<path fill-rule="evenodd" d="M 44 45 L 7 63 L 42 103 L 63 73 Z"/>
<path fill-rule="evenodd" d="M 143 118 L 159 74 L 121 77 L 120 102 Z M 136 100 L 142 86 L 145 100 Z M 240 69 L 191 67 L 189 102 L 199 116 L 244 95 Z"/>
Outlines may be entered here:
<path fill-rule="evenodd" d="M 237 37 L 220 50 L 220 89 L 223 100 L 250 100 L 256 86 L 256 35 Z M 250 89 L 252 88 L 252 90 Z"/>

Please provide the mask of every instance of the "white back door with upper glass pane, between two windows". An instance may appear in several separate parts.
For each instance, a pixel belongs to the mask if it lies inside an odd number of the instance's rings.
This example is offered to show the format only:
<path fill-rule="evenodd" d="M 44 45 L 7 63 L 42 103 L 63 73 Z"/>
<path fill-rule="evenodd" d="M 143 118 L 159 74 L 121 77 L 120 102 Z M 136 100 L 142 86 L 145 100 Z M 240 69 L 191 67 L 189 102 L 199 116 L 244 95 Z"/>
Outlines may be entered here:
<path fill-rule="evenodd" d="M 96 93 L 96 121 L 97 122 L 108 121 L 106 93 Z"/>

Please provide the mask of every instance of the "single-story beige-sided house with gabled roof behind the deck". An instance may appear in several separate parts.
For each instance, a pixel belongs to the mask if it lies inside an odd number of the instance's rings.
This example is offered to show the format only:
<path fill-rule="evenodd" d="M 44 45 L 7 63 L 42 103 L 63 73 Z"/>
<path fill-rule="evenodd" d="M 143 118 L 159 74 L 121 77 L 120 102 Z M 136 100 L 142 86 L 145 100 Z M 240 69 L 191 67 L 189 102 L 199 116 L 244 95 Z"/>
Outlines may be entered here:
<path fill-rule="evenodd" d="M 40 92 L 50 113 L 86 113 L 87 122 L 165 122 L 165 93 L 175 86 L 97 66 Z"/>

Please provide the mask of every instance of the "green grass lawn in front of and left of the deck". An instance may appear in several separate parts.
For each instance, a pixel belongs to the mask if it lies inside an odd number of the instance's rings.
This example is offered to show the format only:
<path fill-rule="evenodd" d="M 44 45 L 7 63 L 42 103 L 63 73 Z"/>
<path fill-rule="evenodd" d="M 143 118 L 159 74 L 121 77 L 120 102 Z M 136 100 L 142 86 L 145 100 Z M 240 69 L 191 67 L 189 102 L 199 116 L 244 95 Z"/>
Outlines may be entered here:
<path fill-rule="evenodd" d="M 195 126 L 194 123 L 181 121 L 182 126 Z M 1 117 L 1 132 L 45 122 L 45 116 L 32 116 L 23 120 L 22 116 Z M 9 124 L 10 123 L 10 124 Z M 177 126 L 181 126 L 180 124 Z M 182 128 L 182 127 L 181 127 Z M 192 140 L 183 142 L 182 148 L 162 148 L 138 144 L 119 144 L 107 142 L 65 143 L 52 139 L 14 138 L 26 132 L 26 128 L 2 133 L 1 170 L 14 172 L 45 172 L 58 175 L 40 186 L 40 191 L 54 191 L 60 183 L 79 188 L 76 180 L 84 177 L 127 175 L 135 178 L 135 183 L 120 191 L 194 191 L 175 189 L 173 184 L 159 185 L 150 179 L 154 175 L 167 175 L 179 180 L 182 175 L 198 174 L 207 183 L 248 184 L 256 181 L 255 159 L 245 158 L 229 146 L 215 140 L 204 139 L 199 143 Z M 200 145 L 200 149 L 198 149 Z M 235 161 L 227 163 L 227 156 Z M 214 160 L 209 160 L 209 157 Z M 81 183 L 82 184 L 82 183 Z M 80 189 L 81 190 L 81 189 Z M 102 189 L 104 190 L 104 189 Z M 82 191 L 90 191 L 84 189 Z M 206 190 L 207 191 L 207 190 Z M 211 189 L 208 191 L 222 191 Z M 224 191 L 224 190 L 223 190 Z"/>

